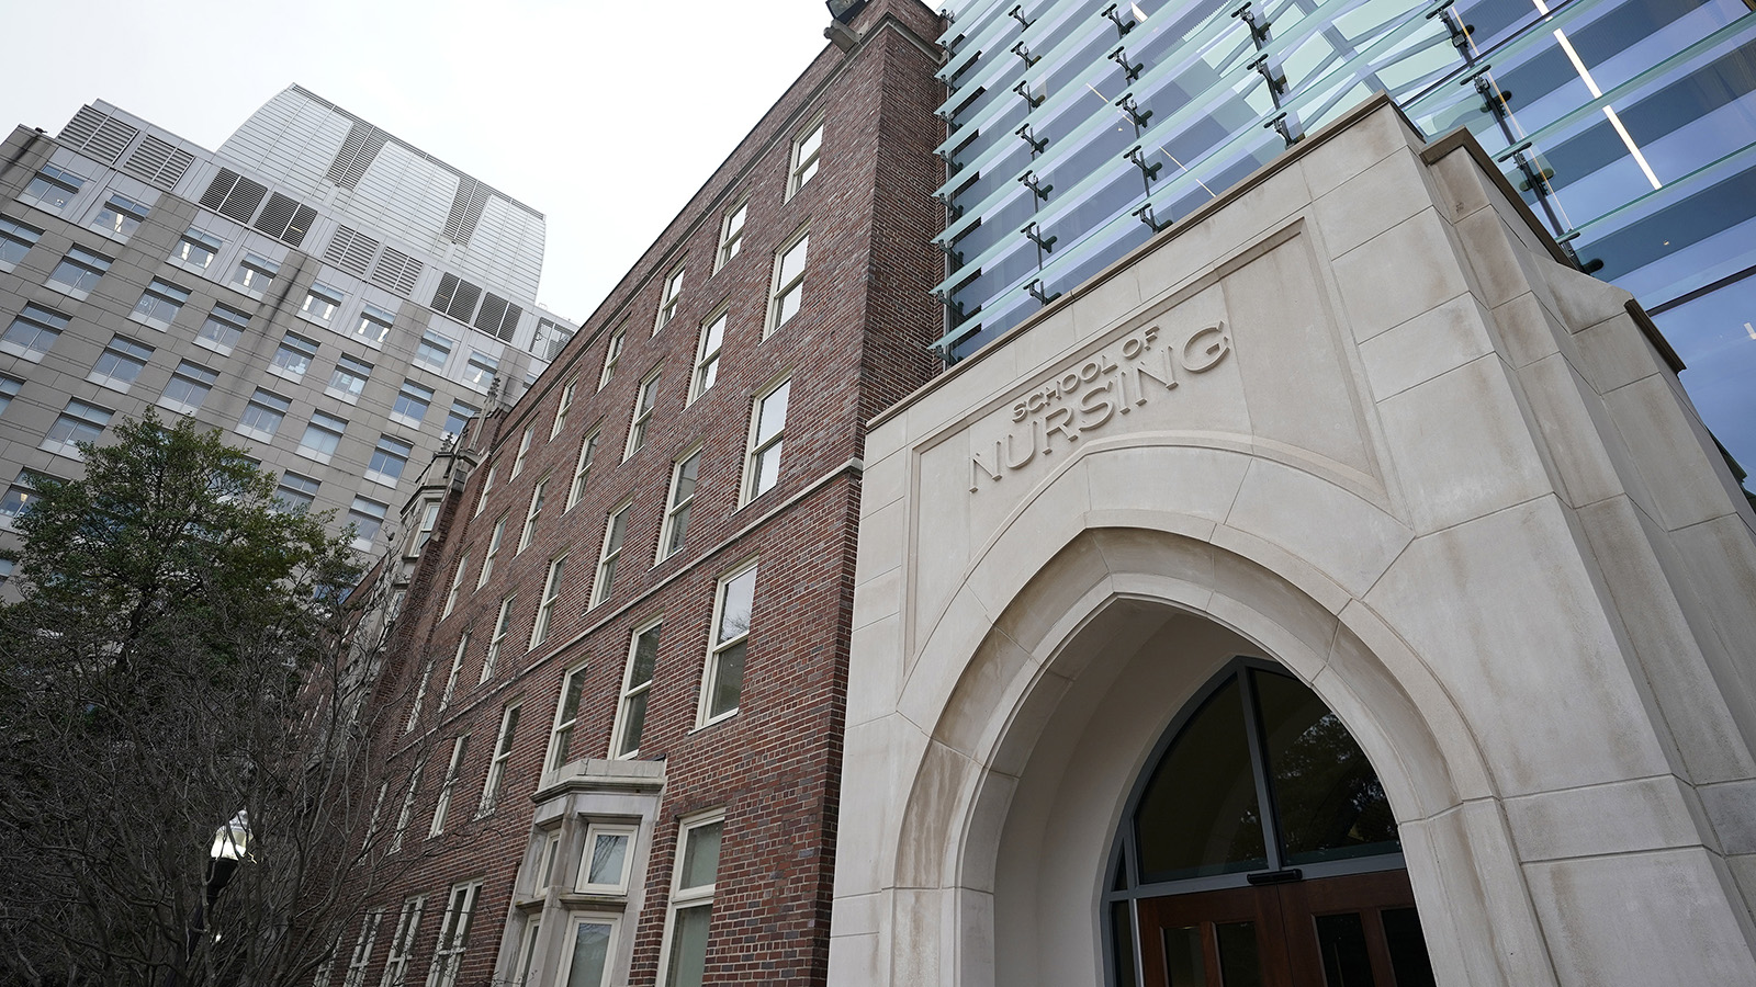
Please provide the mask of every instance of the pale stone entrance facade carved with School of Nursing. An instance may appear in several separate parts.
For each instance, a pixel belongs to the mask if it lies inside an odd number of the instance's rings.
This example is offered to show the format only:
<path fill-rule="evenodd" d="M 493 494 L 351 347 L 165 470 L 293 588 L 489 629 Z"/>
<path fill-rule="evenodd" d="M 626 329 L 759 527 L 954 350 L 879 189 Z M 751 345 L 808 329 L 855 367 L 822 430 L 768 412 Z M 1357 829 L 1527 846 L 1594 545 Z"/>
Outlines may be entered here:
<path fill-rule="evenodd" d="M 1234 655 L 1377 767 L 1440 983 L 1756 983 L 1756 518 L 1561 260 L 1377 97 L 882 414 L 831 983 L 1106 982 Z"/>

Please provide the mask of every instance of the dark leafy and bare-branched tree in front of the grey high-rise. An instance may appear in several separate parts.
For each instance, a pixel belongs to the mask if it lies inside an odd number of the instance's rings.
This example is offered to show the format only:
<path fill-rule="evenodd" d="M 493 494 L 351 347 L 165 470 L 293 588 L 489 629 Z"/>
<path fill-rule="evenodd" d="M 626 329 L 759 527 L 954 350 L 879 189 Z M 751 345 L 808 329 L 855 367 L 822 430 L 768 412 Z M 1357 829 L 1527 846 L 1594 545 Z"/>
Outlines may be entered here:
<path fill-rule="evenodd" d="M 311 983 L 409 857 L 379 832 L 407 776 L 360 722 L 351 532 L 188 420 L 114 436 L 18 518 L 0 982 Z M 241 864 L 218 854 L 228 822 Z"/>

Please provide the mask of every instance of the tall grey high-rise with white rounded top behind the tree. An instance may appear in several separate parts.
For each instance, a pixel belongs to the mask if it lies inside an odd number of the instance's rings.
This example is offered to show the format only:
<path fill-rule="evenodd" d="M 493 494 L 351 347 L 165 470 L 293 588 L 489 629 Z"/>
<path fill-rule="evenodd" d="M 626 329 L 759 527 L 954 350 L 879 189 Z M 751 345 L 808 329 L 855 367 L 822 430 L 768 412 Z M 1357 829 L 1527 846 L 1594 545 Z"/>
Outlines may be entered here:
<path fill-rule="evenodd" d="M 536 304 L 541 213 L 299 86 L 218 151 L 98 102 L 0 156 L 0 541 L 32 478 L 155 407 L 374 550 L 576 328 Z"/>

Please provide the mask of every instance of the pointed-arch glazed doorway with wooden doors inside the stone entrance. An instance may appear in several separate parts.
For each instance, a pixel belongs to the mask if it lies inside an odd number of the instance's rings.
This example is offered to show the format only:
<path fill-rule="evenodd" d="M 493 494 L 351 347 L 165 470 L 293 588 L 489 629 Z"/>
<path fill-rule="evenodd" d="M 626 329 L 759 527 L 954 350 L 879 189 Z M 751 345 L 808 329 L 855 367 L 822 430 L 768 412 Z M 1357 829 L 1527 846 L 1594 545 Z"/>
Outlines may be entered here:
<path fill-rule="evenodd" d="M 1103 904 L 1120 987 L 1429 987 L 1396 822 L 1324 702 L 1236 659 L 1134 785 Z"/>

